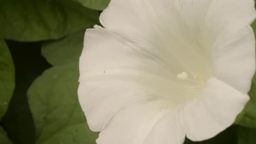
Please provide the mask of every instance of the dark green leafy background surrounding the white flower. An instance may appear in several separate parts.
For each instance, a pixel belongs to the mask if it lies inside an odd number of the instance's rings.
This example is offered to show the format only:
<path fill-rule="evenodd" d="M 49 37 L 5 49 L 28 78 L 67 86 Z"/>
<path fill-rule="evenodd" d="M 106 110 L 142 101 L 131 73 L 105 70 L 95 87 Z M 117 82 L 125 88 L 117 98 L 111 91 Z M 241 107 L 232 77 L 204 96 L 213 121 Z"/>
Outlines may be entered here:
<path fill-rule="evenodd" d="M 95 144 L 78 62 L 85 29 L 100 25 L 109 1 L 0 0 L 0 144 Z M 185 144 L 256 144 L 256 78 L 249 95 L 233 126 Z"/>

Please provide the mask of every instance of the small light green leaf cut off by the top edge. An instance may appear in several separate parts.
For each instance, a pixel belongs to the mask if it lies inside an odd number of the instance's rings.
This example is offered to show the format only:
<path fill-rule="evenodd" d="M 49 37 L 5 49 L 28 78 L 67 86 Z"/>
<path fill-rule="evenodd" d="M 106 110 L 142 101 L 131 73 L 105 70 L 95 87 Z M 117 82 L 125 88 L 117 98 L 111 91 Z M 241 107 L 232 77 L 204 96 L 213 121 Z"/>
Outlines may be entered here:
<path fill-rule="evenodd" d="M 94 10 L 104 10 L 108 7 L 110 0 L 74 0 L 81 3 L 83 6 Z"/>

